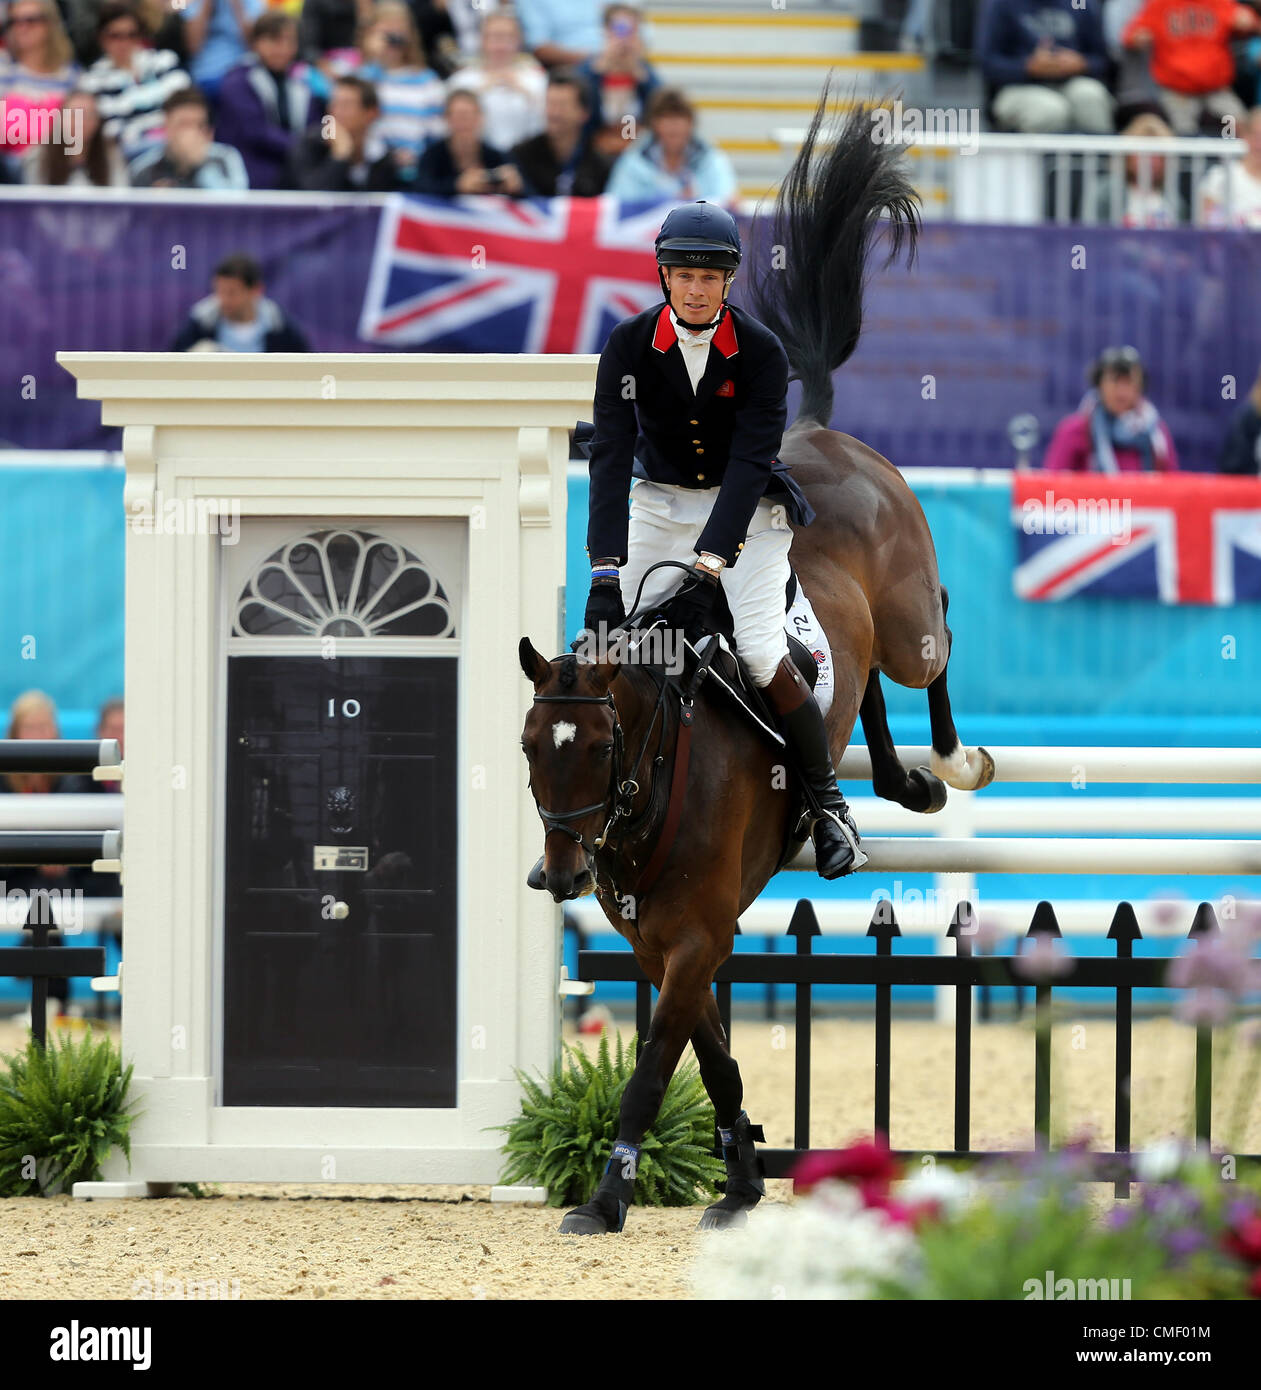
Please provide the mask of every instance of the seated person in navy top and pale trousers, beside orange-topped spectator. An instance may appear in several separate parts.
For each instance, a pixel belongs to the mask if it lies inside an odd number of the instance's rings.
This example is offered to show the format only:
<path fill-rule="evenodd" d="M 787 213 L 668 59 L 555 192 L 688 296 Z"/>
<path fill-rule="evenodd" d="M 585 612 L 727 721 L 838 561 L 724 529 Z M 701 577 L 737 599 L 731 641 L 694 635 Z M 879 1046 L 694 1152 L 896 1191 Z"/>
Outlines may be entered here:
<path fill-rule="evenodd" d="M 976 51 L 1002 129 L 1112 133 L 1098 0 L 990 0 Z"/>

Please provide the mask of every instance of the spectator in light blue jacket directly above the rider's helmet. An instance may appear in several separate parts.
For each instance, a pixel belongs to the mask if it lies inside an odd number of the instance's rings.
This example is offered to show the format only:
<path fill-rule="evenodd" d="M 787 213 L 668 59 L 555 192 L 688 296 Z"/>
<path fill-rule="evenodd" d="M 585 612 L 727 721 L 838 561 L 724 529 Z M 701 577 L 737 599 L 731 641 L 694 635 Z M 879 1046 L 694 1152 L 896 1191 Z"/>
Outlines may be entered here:
<path fill-rule="evenodd" d="M 740 185 L 731 161 L 697 135 L 697 114 L 677 88 L 648 103 L 648 133 L 619 156 L 605 192 L 626 203 L 674 199 L 731 206 Z"/>

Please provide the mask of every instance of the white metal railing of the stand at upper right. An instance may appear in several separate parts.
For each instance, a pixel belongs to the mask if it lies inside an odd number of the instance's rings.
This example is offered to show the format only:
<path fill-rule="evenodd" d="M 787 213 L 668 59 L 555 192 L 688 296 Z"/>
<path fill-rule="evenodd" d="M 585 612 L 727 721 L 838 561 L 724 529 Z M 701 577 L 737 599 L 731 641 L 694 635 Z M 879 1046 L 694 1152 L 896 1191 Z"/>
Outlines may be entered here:
<path fill-rule="evenodd" d="M 786 167 L 804 135 L 798 128 L 773 132 Z M 1119 135 L 918 131 L 900 143 L 911 156 L 925 215 L 957 222 L 1233 227 L 1232 179 L 1222 181 L 1218 207 L 1203 197 L 1204 178 L 1215 164 L 1247 153 L 1237 139 Z"/>

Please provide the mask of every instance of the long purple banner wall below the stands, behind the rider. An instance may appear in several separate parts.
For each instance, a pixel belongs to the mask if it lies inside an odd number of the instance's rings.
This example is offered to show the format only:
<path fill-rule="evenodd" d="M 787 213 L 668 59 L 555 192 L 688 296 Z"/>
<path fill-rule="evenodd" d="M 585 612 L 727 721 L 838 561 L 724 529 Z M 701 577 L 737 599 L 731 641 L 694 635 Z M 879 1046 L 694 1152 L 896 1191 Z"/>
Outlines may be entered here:
<path fill-rule="evenodd" d="M 117 448 L 54 353 L 168 348 L 229 252 L 261 261 L 267 293 L 316 350 L 391 350 L 359 336 L 380 218 L 380 204 L 350 199 L 4 196 L 0 448 Z M 617 260 L 610 247 L 610 272 Z M 1032 414 L 1039 463 L 1098 349 L 1133 343 L 1183 467 L 1211 470 L 1261 364 L 1258 284 L 1261 239 L 1247 232 L 934 224 L 913 272 L 873 275 L 833 424 L 904 467 L 1007 467 L 1008 427 Z M 505 317 L 498 350 L 519 327 Z M 431 346 L 474 345 L 456 332 Z M 484 321 L 475 348 L 487 350 Z"/>

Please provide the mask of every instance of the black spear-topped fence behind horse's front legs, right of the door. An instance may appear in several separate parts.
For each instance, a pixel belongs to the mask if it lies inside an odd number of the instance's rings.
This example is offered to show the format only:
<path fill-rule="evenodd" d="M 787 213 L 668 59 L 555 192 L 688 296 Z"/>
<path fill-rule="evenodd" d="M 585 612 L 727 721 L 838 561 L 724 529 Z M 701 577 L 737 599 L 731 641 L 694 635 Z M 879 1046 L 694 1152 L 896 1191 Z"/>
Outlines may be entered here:
<path fill-rule="evenodd" d="M 1193 941 L 1219 930 L 1217 915 L 1208 903 L 1200 903 L 1189 937 Z M 876 990 L 876 1048 L 874 1129 L 890 1133 L 890 1041 L 893 1027 L 893 991 L 904 986 L 936 986 L 955 990 L 955 1065 L 954 1065 L 954 1148 L 895 1151 L 900 1158 L 919 1159 L 926 1152 L 941 1161 L 963 1162 L 993 1158 L 1016 1158 L 1016 1151 L 972 1148 L 972 1016 L 973 990 L 1014 986 L 1027 987 L 1034 994 L 1034 1072 L 1033 1095 L 1029 1101 L 1033 1120 L 1033 1141 L 1040 1150 L 1051 1144 L 1051 1008 L 1057 986 L 1073 990 L 1111 991 L 1116 1011 L 1116 1066 L 1114 1087 L 1115 1148 L 1096 1152 L 1083 1168 L 1094 1180 L 1114 1182 L 1116 1195 L 1129 1195 L 1134 1175 L 1134 1154 L 1130 1151 L 1130 1068 L 1133 1061 L 1133 991 L 1136 988 L 1169 988 L 1165 981 L 1169 956 L 1134 956 L 1133 944 L 1141 940 L 1139 922 L 1130 903 L 1122 902 L 1112 917 L 1108 940 L 1115 956 L 1064 956 L 1058 966 L 1046 960 L 1047 938 L 1061 935 L 1055 910 L 1050 902 L 1034 909 L 1026 940 L 1040 949 L 1032 958 L 1023 954 L 990 955 L 973 951 L 976 917 L 970 903 L 961 903 L 947 935 L 955 944 L 955 955 L 900 955 L 894 941 L 901 937 L 893 905 L 881 902 L 876 908 L 868 935 L 876 941 L 874 955 L 813 955 L 813 941 L 820 934 L 813 905 L 802 898 L 788 926 L 788 937 L 795 949 L 790 952 L 738 952 L 719 970 L 715 980 L 723 1026 L 731 1033 L 731 986 L 766 984 L 792 986 L 795 992 L 795 1074 L 794 1118 L 791 1148 L 759 1150 L 767 1177 L 787 1177 L 798 1159 L 811 1148 L 811 991 L 815 986 L 848 984 L 874 986 Z M 1039 938 L 1043 938 L 1039 942 Z M 1052 974 L 1052 969 L 1055 973 Z M 1062 972 L 1062 973 L 1059 973 Z M 592 983 L 630 981 L 635 988 L 635 1027 L 646 1036 L 652 1015 L 652 986 L 640 972 L 630 951 L 578 951 L 580 980 Z M 1196 1027 L 1196 1143 L 1208 1147 L 1212 1141 L 1212 1029 Z M 1233 1155 L 1240 1163 L 1261 1163 L 1261 1155 Z"/>

